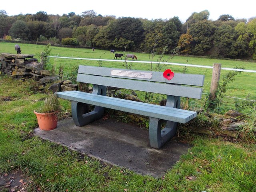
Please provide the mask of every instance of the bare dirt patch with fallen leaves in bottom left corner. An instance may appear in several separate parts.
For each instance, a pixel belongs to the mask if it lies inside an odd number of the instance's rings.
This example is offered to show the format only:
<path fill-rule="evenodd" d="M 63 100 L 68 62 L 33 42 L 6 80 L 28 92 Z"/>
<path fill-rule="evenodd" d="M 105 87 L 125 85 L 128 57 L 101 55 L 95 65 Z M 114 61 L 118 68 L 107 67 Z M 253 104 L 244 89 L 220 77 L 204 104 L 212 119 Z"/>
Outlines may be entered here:
<path fill-rule="evenodd" d="M 21 170 L 14 170 L 10 173 L 0 175 L 0 191 L 3 192 L 27 192 L 31 189 L 41 191 L 36 187 L 33 180 L 22 174 Z"/>

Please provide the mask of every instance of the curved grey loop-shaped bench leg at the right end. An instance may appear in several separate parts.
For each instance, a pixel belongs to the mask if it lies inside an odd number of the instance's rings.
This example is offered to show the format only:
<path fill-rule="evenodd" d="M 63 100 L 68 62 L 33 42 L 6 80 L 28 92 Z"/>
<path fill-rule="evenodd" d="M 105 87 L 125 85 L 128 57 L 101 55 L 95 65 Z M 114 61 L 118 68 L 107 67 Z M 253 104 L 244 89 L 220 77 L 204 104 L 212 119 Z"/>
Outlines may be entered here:
<path fill-rule="evenodd" d="M 166 106 L 180 108 L 180 97 L 167 96 Z M 164 129 L 162 124 L 166 123 Z M 176 134 L 178 123 L 158 118 L 149 118 L 149 140 L 152 148 L 160 149 Z"/>

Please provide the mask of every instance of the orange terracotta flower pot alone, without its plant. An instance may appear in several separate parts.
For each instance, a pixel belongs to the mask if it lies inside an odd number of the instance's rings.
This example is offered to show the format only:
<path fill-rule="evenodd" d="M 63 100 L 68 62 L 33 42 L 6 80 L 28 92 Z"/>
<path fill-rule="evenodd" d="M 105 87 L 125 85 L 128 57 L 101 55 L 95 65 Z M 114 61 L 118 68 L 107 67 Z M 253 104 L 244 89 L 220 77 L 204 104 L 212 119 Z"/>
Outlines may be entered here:
<path fill-rule="evenodd" d="M 40 130 L 48 131 L 57 127 L 58 116 L 56 113 L 38 113 L 34 111 L 34 114 L 36 114 Z"/>

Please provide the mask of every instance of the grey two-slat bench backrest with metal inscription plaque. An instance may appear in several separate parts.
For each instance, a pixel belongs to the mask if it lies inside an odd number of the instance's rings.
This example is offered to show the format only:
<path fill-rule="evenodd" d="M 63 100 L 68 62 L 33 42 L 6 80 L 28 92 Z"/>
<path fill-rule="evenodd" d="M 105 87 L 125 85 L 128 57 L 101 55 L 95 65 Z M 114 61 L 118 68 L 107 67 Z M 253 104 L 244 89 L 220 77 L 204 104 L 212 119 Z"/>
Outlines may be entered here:
<path fill-rule="evenodd" d="M 163 72 L 80 65 L 77 82 L 200 99 L 202 88 L 195 86 L 203 86 L 204 75 L 174 72 L 167 80 Z"/>

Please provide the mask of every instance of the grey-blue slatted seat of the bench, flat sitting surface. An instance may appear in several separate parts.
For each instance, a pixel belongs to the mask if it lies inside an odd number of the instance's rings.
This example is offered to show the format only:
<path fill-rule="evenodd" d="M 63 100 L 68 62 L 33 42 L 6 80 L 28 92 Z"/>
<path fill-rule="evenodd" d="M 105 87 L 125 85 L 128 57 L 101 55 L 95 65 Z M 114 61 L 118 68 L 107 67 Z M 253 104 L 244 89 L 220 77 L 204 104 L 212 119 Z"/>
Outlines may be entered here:
<path fill-rule="evenodd" d="M 124 112 L 140 114 L 148 117 L 160 118 L 174 122 L 186 123 L 196 116 L 196 112 L 146 104 L 142 102 L 134 102 L 123 100 L 120 98 L 112 98 L 78 91 L 58 92 L 58 97 L 83 102 L 95 106 L 102 106 Z"/>

